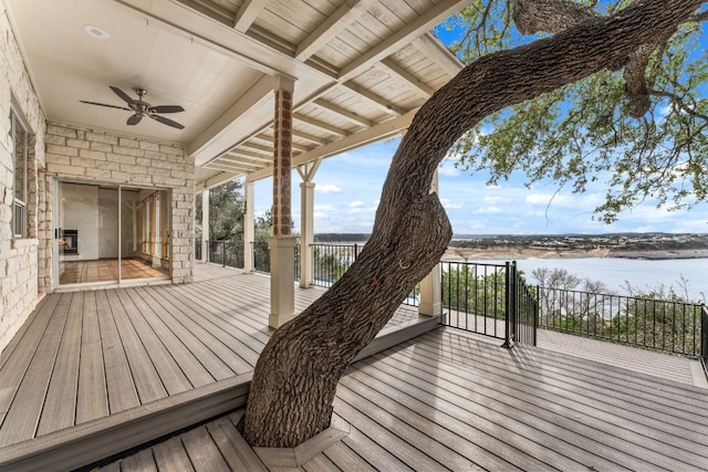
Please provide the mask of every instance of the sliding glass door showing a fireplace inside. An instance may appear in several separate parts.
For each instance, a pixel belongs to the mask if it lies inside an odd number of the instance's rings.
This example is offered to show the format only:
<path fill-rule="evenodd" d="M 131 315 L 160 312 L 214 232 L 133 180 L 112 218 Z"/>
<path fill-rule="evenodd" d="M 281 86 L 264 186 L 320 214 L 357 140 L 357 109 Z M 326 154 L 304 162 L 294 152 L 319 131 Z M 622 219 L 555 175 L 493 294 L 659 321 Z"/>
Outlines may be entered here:
<path fill-rule="evenodd" d="M 60 181 L 56 193 L 60 286 L 169 276 L 168 190 Z"/>

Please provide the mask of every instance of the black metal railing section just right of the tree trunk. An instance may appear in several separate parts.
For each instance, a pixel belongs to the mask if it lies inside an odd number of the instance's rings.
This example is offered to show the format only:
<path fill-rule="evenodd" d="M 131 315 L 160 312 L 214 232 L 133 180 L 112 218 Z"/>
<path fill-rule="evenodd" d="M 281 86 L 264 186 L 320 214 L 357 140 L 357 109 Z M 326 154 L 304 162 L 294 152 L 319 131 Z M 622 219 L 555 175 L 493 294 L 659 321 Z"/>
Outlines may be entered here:
<path fill-rule="evenodd" d="M 538 304 L 516 262 L 441 261 L 442 324 L 514 343 L 535 345 Z"/>

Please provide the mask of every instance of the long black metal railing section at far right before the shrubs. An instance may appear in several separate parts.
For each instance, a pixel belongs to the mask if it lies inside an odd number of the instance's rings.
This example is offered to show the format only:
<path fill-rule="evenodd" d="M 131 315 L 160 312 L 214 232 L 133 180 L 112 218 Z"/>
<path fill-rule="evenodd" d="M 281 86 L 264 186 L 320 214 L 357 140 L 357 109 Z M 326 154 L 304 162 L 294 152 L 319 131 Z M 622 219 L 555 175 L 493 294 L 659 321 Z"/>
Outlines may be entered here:
<path fill-rule="evenodd" d="M 699 357 L 706 343 L 702 305 L 541 286 L 535 292 L 543 329 L 690 357 Z"/>

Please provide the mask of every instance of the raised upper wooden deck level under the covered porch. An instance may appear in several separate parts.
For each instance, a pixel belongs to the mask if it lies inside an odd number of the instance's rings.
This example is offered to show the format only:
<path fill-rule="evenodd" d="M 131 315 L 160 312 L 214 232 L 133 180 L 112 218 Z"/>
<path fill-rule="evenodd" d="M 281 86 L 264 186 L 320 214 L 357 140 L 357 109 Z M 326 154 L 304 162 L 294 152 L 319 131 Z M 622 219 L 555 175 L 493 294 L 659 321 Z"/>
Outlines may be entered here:
<path fill-rule="evenodd" d="M 199 265 L 190 284 L 45 296 L 0 355 L 0 470 L 94 461 L 243 406 L 269 292 L 266 275 Z M 295 310 L 322 293 L 296 289 Z M 435 327 L 402 306 L 367 353 Z"/>

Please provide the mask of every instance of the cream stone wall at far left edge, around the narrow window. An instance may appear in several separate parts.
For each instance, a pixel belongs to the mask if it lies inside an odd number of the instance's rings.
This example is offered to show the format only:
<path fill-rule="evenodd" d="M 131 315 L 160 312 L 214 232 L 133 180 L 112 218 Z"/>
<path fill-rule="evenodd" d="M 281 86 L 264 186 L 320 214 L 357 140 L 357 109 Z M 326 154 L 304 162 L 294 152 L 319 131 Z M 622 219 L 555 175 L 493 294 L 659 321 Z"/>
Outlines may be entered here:
<path fill-rule="evenodd" d="M 27 238 L 12 237 L 14 164 L 10 109 L 28 128 Z M 38 291 L 38 170 L 44 166 L 44 115 L 32 88 L 20 50 L 0 0 L 0 352 L 39 302 Z"/>

